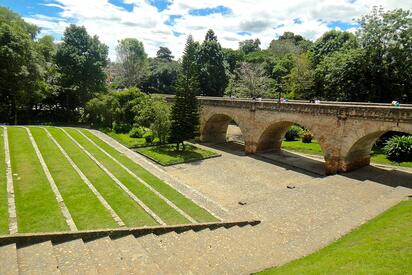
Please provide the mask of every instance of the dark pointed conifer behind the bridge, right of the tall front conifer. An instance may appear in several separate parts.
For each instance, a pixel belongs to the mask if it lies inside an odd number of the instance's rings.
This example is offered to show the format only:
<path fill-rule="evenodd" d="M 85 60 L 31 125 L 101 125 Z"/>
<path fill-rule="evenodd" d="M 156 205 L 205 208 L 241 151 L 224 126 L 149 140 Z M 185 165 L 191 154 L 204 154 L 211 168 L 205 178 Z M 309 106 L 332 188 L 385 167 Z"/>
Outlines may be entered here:
<path fill-rule="evenodd" d="M 207 32 L 197 56 L 202 94 L 223 96 L 228 76 L 223 51 L 213 30 Z"/>

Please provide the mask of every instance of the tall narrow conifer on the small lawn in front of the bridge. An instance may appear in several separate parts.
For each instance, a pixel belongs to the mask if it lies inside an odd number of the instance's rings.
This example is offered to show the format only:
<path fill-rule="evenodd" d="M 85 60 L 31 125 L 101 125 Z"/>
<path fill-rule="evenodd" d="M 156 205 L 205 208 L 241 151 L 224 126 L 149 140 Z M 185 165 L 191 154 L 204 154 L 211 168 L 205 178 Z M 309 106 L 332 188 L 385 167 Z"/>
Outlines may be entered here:
<path fill-rule="evenodd" d="M 191 35 L 186 41 L 182 57 L 181 73 L 177 81 L 175 103 L 172 107 L 170 140 L 177 150 L 184 141 L 196 136 L 199 125 L 199 102 L 196 95 L 200 90 L 199 70 L 196 63 L 198 46 Z"/>

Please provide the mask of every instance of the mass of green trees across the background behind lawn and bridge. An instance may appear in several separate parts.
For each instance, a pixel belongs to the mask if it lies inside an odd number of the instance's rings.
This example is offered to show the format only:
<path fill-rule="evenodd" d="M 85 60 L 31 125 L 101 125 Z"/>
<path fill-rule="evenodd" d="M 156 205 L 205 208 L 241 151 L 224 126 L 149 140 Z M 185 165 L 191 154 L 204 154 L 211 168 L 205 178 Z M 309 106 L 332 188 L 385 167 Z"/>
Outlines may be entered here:
<path fill-rule="evenodd" d="M 191 71 L 196 77 L 187 78 L 184 58 L 173 60 L 167 47 L 148 58 L 141 41 L 125 38 L 116 48 L 117 60 L 109 63 L 107 46 L 84 27 L 70 25 L 57 44 L 51 36 L 37 37 L 38 27 L 0 7 L 0 122 L 76 123 L 82 118 L 131 128 L 138 111 L 131 111 L 136 102 L 125 103 L 135 100 L 129 97 L 130 88 L 143 93 L 175 94 L 190 88 L 195 95 L 208 96 L 411 103 L 411 12 L 375 8 L 357 22 L 356 35 L 331 30 L 312 42 L 285 32 L 267 49 L 261 49 L 259 39 L 225 49 L 209 30 L 201 44 L 192 43 Z"/>

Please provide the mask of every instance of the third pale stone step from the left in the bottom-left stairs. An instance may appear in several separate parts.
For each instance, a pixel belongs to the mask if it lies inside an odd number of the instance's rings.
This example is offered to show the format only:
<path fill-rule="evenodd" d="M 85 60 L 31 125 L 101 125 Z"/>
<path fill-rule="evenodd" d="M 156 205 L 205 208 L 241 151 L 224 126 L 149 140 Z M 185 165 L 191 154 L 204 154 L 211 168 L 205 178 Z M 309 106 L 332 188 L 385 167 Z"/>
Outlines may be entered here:
<path fill-rule="evenodd" d="M 98 274 L 82 239 L 54 244 L 53 250 L 62 274 Z"/>

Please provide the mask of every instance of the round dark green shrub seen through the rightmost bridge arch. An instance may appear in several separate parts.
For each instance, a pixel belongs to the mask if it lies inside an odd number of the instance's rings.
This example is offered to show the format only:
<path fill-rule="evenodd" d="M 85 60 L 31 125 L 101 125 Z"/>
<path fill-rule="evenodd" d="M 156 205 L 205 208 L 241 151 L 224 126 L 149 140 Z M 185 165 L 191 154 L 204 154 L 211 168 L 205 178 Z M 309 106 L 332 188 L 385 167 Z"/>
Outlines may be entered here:
<path fill-rule="evenodd" d="M 386 142 L 386 157 L 396 162 L 412 161 L 412 136 L 395 136 Z"/>

